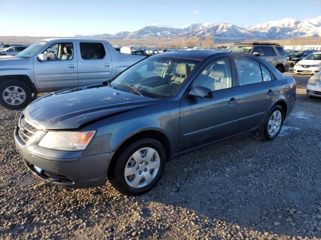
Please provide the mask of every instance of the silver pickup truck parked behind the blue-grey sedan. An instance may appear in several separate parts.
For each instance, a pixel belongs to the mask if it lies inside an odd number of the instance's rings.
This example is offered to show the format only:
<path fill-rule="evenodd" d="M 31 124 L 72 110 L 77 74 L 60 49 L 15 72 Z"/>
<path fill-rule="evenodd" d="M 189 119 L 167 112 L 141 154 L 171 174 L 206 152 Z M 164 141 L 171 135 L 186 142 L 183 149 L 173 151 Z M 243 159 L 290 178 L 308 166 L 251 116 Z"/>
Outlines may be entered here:
<path fill-rule="evenodd" d="M 18 109 L 32 93 L 103 82 L 145 56 L 118 52 L 105 40 L 51 38 L 0 58 L 0 104 Z"/>

